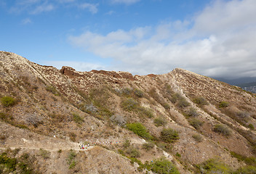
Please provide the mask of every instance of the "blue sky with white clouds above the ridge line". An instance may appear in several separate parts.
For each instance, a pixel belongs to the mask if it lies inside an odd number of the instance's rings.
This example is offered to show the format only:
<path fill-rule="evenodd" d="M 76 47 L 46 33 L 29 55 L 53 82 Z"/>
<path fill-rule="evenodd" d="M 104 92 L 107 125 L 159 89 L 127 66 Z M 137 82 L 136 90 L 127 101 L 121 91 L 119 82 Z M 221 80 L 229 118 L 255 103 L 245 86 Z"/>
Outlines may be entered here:
<path fill-rule="evenodd" d="M 256 77 L 256 1 L 0 0 L 0 50 L 58 69 Z"/>

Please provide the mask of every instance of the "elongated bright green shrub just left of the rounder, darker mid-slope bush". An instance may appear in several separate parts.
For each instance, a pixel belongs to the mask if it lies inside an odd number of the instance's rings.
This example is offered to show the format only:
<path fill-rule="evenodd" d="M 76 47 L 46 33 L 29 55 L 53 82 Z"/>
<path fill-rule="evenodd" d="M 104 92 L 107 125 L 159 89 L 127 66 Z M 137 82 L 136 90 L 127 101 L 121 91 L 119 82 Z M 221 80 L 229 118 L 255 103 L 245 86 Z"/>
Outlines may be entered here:
<path fill-rule="evenodd" d="M 143 137 L 145 139 L 151 139 L 153 138 L 149 133 L 148 130 L 145 128 L 144 125 L 141 123 L 130 123 L 127 124 L 127 128 L 129 130 L 132 130 L 137 136 Z"/>

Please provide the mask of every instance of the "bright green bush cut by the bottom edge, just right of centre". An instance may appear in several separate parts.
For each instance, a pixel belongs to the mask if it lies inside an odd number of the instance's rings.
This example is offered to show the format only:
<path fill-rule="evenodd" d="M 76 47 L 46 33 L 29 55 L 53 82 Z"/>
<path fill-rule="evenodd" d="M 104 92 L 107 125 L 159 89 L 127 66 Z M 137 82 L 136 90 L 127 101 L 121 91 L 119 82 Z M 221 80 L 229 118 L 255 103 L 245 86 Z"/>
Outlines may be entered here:
<path fill-rule="evenodd" d="M 179 171 L 169 160 L 161 157 L 151 164 L 151 170 L 159 174 L 179 174 Z"/>

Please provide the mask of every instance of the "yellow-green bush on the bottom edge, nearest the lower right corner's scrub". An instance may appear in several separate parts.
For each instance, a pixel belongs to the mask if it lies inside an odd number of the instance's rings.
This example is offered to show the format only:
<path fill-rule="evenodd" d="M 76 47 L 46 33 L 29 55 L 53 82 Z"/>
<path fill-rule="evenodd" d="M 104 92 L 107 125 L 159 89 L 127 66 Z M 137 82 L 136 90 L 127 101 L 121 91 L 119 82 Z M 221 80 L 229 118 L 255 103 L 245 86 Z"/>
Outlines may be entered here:
<path fill-rule="evenodd" d="M 231 169 L 217 159 L 208 159 L 200 165 L 197 165 L 197 167 L 199 168 L 200 173 L 231 173 Z"/>

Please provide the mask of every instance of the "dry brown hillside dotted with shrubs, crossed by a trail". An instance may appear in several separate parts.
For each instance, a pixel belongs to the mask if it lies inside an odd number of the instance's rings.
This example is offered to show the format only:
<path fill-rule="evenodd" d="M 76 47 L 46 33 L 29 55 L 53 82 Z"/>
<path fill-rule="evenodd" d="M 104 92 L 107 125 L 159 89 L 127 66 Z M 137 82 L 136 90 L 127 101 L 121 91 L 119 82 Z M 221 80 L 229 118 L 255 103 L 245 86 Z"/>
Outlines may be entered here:
<path fill-rule="evenodd" d="M 255 94 L 187 70 L 57 70 L 0 51 L 0 98 L 0 173 L 256 173 Z"/>

